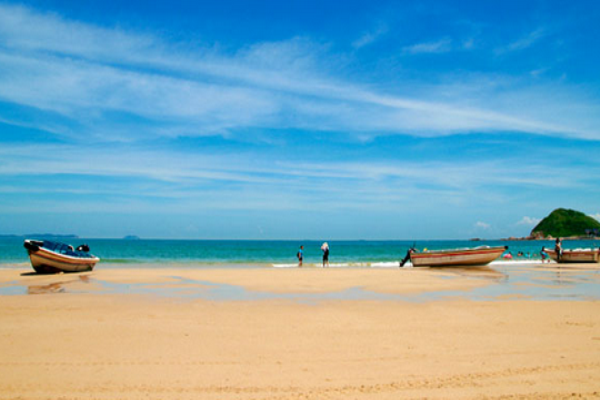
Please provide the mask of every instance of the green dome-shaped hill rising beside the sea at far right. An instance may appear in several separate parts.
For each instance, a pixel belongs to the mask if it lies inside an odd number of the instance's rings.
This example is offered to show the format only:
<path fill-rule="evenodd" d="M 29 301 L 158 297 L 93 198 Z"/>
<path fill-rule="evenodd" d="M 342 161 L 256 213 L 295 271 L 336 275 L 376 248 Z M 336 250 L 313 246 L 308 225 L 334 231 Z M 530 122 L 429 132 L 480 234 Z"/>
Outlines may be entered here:
<path fill-rule="evenodd" d="M 533 228 L 531 236 L 555 238 L 589 236 L 590 231 L 594 229 L 600 230 L 600 222 L 594 218 L 579 211 L 557 208 Z"/>

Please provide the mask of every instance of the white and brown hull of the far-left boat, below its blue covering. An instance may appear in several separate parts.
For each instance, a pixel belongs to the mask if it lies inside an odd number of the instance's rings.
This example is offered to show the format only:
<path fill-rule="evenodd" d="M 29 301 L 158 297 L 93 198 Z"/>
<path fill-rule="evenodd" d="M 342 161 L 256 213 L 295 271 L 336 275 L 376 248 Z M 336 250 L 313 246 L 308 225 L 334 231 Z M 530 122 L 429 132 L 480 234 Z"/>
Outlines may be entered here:
<path fill-rule="evenodd" d="M 60 254 L 26 241 L 31 266 L 38 273 L 91 271 L 100 261 L 97 257 L 75 257 Z"/>

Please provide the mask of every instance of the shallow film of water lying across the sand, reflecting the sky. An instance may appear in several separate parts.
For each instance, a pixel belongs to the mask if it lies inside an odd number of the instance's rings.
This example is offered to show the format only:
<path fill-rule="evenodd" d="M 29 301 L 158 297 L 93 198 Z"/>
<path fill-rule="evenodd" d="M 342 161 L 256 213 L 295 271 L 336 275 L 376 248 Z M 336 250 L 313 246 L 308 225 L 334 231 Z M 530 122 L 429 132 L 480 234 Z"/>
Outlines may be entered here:
<path fill-rule="evenodd" d="M 494 300 L 599 300 L 600 265 L 563 266 L 556 263 L 495 262 L 481 268 L 411 268 L 410 273 L 443 271 L 443 279 L 484 280 L 488 285 L 471 290 L 435 291 L 417 294 L 383 294 L 353 287 L 327 293 L 272 293 L 250 291 L 242 286 L 197 281 L 171 276 L 163 283 L 115 283 L 97 278 L 93 272 L 64 275 L 40 275 L 38 283 L 13 281 L 0 284 L 0 295 L 39 294 L 136 294 L 212 301 L 256 301 L 289 299 L 300 302 L 324 300 L 386 300 L 426 302 L 445 299 Z M 24 275 L 33 275 L 27 273 Z M 43 283 L 42 283 L 43 282 Z"/>

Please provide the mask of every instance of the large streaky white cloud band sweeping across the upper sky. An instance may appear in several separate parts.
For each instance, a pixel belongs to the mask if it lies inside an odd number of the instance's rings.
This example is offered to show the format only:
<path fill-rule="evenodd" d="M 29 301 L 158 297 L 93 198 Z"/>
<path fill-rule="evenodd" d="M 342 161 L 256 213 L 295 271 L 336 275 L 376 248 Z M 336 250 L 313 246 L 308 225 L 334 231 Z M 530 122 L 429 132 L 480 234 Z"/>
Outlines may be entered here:
<path fill-rule="evenodd" d="M 357 43 L 367 45 L 383 33 Z M 110 117 L 119 113 L 146 121 L 146 136 L 298 128 L 420 136 L 522 131 L 600 139 L 600 107 L 578 90 L 521 86 L 494 76 L 448 77 L 435 85 L 407 81 L 384 92 L 344 79 L 339 57 L 303 38 L 222 54 L 0 5 L 0 41 L 6 45 L 0 51 L 0 100 L 55 113 L 61 122 L 0 118 L 51 132 L 69 131 L 71 121 L 77 131 L 98 137 L 135 136 Z M 444 52 L 451 45 L 442 39 L 406 51 Z"/>

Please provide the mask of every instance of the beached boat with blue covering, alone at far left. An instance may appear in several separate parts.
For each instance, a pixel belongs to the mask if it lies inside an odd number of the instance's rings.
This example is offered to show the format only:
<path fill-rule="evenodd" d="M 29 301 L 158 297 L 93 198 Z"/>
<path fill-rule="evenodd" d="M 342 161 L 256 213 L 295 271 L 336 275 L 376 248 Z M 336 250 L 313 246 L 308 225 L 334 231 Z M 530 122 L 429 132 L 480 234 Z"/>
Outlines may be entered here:
<path fill-rule="evenodd" d="M 91 271 L 100 259 L 89 252 L 87 245 L 77 249 L 50 240 L 25 240 L 31 266 L 38 273 Z"/>

